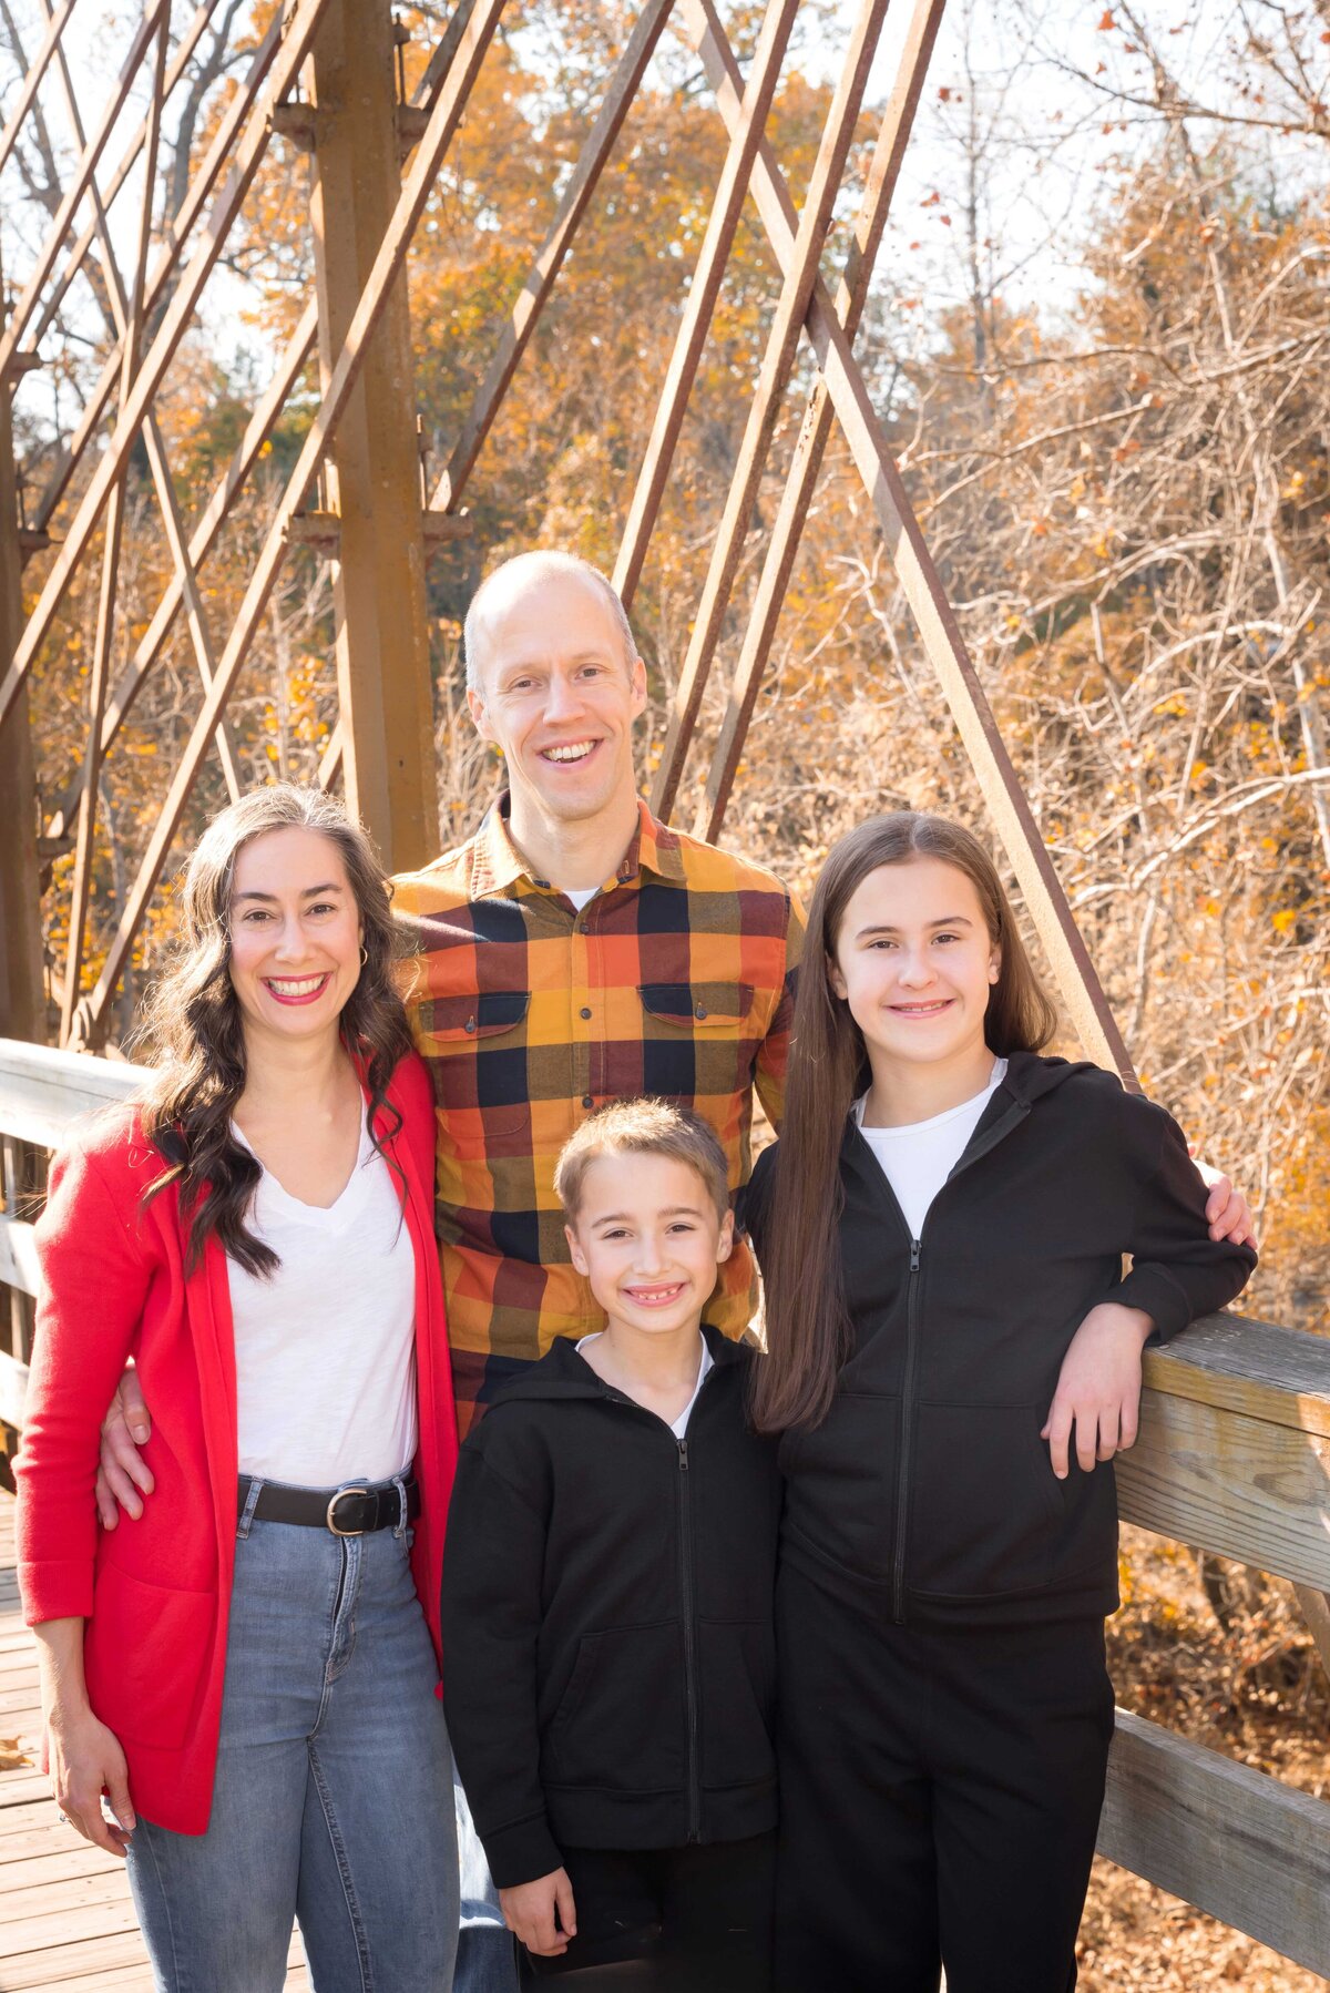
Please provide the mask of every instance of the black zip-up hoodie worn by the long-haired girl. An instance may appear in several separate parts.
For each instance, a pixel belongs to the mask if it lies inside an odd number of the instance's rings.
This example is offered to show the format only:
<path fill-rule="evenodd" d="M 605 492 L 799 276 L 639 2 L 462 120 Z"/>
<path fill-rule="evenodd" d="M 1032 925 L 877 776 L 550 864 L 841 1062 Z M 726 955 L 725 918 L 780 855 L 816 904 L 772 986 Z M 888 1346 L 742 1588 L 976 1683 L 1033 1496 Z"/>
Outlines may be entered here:
<path fill-rule="evenodd" d="M 778 1168 L 780 1144 L 742 1214 L 758 1258 Z M 1256 1264 L 1210 1240 L 1176 1122 L 1097 1066 L 1015 1052 L 919 1240 L 853 1116 L 839 1178 L 853 1345 L 824 1423 L 782 1439 L 782 1557 L 899 1624 L 1117 1610 L 1113 1465 L 1073 1453 L 1059 1481 L 1039 1431 L 1097 1301 L 1166 1339 Z"/>

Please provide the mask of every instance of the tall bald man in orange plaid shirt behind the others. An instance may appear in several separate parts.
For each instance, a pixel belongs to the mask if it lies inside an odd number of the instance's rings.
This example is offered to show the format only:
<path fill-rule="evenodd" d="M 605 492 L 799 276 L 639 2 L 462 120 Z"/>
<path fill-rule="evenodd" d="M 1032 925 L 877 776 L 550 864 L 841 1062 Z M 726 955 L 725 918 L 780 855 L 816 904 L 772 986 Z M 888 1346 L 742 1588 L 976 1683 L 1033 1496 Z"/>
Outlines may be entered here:
<path fill-rule="evenodd" d="M 780 1120 L 802 941 L 772 873 L 682 837 L 638 799 L 646 668 L 592 566 L 518 554 L 483 582 L 467 698 L 508 791 L 465 845 L 395 881 L 415 943 L 407 1008 L 439 1106 L 435 1208 L 463 1433 L 556 1335 L 602 1325 L 554 1196 L 558 1150 L 594 1106 L 648 1092 L 694 1108 L 722 1140 L 730 1190 L 748 1180 L 754 1090 Z M 1208 1216 L 1212 1232 L 1246 1232 L 1222 1180 Z M 704 1319 L 742 1335 L 752 1305 L 752 1258 L 736 1242 Z M 148 1437 L 134 1387 L 128 1397 Z M 120 1419 L 104 1469 L 114 1527 L 114 1497 L 138 1515 L 138 1489 L 152 1487 Z M 479 1857 L 465 1812 L 459 1828 Z M 467 1873 L 463 1897 L 457 1987 L 514 1987 L 493 1897 Z"/>

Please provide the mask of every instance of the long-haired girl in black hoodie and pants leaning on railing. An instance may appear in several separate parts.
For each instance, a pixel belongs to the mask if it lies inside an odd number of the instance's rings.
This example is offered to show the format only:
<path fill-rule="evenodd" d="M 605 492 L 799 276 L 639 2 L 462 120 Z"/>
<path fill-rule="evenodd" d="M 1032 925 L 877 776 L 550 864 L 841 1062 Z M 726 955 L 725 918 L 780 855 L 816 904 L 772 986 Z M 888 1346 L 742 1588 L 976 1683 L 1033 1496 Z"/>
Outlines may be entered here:
<path fill-rule="evenodd" d="M 1161 1108 L 1037 1056 L 1055 1012 L 969 831 L 851 831 L 806 947 L 748 1204 L 786 1473 L 778 1985 L 1067 1993 L 1113 1736 L 1107 1463 L 1147 1337 L 1254 1254 L 1206 1236 Z"/>

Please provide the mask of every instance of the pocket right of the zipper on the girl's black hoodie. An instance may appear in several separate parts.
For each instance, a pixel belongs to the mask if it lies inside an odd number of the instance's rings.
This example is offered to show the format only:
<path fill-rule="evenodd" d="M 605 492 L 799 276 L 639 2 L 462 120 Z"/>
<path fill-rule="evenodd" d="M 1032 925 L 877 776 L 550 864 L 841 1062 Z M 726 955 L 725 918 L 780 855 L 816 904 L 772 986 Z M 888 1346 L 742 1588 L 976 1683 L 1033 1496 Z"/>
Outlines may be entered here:
<path fill-rule="evenodd" d="M 919 1405 L 905 1582 L 979 1598 L 1053 1578 L 1063 1495 L 1039 1437 L 1047 1407 Z"/>

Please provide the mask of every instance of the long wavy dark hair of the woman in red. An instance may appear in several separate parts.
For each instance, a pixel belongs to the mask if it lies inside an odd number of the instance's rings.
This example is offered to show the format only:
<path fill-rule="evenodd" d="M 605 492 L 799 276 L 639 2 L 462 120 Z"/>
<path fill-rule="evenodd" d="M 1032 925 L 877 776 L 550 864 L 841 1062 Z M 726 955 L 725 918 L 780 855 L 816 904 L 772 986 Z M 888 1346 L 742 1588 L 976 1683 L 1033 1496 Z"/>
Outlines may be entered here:
<path fill-rule="evenodd" d="M 341 1036 L 361 1068 L 371 1128 L 393 1068 L 411 1050 L 407 1014 L 393 987 L 391 887 L 367 833 L 319 789 L 283 781 L 241 795 L 213 817 L 185 865 L 175 957 L 134 1036 L 134 1050 L 154 1068 L 140 1106 L 144 1134 L 166 1162 L 144 1202 L 169 1184 L 179 1186 L 189 1226 L 187 1272 L 213 1236 L 249 1274 L 277 1268 L 277 1254 L 247 1228 L 261 1166 L 231 1134 L 245 1090 L 245 1032 L 231 987 L 231 891 L 243 847 L 293 827 L 337 845 L 355 897 L 365 959 L 341 1012 Z"/>

